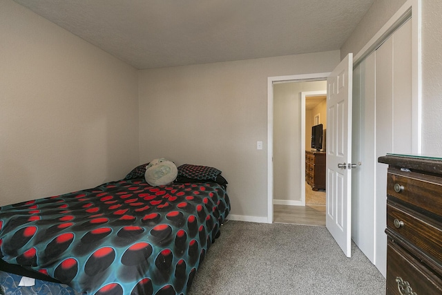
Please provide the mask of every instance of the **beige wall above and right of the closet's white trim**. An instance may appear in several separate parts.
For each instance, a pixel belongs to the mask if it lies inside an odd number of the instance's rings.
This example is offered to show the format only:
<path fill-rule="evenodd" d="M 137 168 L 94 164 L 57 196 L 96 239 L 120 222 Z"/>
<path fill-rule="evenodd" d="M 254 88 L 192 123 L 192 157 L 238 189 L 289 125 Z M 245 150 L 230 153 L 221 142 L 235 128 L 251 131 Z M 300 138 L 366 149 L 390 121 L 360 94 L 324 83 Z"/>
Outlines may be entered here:
<path fill-rule="evenodd" d="M 405 0 L 376 0 L 341 48 L 341 57 L 358 53 Z M 442 151 L 442 1 L 422 3 L 422 152 Z"/>

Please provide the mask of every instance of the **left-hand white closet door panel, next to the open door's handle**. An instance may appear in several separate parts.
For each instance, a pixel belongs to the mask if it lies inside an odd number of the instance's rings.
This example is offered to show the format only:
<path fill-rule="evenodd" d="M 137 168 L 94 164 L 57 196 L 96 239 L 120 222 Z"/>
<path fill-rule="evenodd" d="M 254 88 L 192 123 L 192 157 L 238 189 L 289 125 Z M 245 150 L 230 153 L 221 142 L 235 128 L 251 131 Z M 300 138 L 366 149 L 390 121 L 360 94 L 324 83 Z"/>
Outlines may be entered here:
<path fill-rule="evenodd" d="M 352 240 L 374 263 L 375 59 L 369 55 L 353 70 Z M 359 197 L 359 198 L 358 198 Z"/>

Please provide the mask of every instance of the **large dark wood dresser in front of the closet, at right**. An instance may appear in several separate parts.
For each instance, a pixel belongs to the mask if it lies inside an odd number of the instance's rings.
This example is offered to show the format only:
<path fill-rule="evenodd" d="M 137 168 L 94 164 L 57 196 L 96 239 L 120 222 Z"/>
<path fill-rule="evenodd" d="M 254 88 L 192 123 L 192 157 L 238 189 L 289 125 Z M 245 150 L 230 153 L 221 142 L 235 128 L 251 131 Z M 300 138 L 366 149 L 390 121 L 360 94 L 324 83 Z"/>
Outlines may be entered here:
<path fill-rule="evenodd" d="M 442 294 L 442 158 L 386 155 L 387 294 Z"/>

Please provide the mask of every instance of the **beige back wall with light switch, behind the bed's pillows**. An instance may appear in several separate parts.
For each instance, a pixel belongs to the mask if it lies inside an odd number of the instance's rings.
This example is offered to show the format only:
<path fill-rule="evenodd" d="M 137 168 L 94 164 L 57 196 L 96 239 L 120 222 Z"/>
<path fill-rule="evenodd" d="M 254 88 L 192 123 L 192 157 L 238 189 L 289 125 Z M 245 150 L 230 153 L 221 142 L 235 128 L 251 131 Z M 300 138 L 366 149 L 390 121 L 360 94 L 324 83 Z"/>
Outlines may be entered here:
<path fill-rule="evenodd" d="M 329 72 L 338 61 L 332 51 L 141 70 L 140 161 L 218 167 L 231 213 L 267 218 L 267 77 Z"/>

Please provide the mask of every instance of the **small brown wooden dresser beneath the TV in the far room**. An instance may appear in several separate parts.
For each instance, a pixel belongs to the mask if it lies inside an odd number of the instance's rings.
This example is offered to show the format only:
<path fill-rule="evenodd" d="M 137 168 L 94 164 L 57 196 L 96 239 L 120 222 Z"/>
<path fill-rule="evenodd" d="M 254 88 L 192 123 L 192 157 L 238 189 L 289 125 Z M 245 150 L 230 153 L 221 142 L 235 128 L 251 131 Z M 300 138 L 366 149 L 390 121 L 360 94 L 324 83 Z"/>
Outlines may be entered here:
<path fill-rule="evenodd" d="M 311 189 L 325 189 L 325 152 L 305 151 L 305 181 Z"/>

